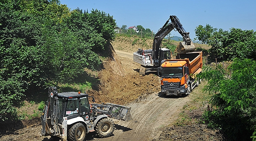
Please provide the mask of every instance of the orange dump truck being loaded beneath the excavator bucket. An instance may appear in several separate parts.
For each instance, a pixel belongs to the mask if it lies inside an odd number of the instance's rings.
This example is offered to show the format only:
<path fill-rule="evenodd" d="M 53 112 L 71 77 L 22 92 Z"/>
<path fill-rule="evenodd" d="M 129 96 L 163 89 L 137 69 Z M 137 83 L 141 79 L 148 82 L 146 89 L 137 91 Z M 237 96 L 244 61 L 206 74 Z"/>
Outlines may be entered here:
<path fill-rule="evenodd" d="M 202 71 L 202 51 L 178 54 L 176 59 L 163 60 L 158 67 L 161 92 L 165 95 L 189 95 L 199 85 L 196 74 Z"/>

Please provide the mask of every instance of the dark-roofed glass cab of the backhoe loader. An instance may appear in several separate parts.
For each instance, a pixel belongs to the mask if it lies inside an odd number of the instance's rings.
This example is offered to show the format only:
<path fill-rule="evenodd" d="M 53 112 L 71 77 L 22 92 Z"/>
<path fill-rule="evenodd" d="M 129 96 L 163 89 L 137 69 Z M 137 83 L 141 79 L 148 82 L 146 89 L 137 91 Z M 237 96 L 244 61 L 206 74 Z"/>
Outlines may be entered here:
<path fill-rule="evenodd" d="M 58 93 L 59 98 L 59 117 L 58 122 L 62 123 L 63 117 L 72 119 L 83 117 L 84 121 L 90 119 L 90 105 L 88 94 L 80 92 Z"/>

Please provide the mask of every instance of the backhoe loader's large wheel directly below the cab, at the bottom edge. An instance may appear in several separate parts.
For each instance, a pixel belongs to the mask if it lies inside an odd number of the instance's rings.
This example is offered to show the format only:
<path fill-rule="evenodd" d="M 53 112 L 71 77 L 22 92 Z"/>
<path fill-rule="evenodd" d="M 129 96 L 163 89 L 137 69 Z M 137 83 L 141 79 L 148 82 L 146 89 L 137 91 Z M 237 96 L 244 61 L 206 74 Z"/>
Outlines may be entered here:
<path fill-rule="evenodd" d="M 69 129 L 69 141 L 83 141 L 86 136 L 86 129 L 82 123 L 76 123 Z"/>

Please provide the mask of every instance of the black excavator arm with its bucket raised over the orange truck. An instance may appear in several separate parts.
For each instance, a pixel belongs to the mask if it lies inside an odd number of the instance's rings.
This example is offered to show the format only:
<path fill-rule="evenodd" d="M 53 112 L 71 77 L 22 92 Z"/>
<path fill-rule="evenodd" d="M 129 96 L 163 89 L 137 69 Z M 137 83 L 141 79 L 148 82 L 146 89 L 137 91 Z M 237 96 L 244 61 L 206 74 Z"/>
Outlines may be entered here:
<path fill-rule="evenodd" d="M 169 21 L 171 20 L 171 23 Z M 182 37 L 184 42 L 180 42 L 178 48 L 176 49 L 176 52 L 178 53 L 187 53 L 187 52 L 193 52 L 195 51 L 195 46 L 193 45 L 193 42 L 189 38 L 189 32 L 186 32 L 186 30 L 182 27 L 182 24 L 180 23 L 180 20 L 177 18 L 177 16 L 171 15 L 170 18 L 165 22 L 163 27 L 161 27 L 158 32 L 156 33 L 154 37 L 153 47 L 152 47 L 152 60 L 154 61 L 155 65 L 159 65 L 159 50 L 161 46 L 161 42 L 163 38 L 169 34 L 173 29 L 176 29 Z"/>

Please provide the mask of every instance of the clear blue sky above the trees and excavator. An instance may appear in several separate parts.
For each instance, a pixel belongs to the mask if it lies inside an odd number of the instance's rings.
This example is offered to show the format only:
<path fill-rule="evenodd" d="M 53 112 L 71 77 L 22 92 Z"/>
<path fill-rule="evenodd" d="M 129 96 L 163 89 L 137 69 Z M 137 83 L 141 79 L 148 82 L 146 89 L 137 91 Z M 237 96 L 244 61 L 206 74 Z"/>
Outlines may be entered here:
<path fill-rule="evenodd" d="M 109 13 L 122 25 L 142 25 L 157 33 L 170 15 L 176 15 L 193 40 L 198 25 L 256 31 L 256 0 L 60 0 L 71 10 L 79 7 Z M 172 31 L 172 36 L 181 36 Z"/>

